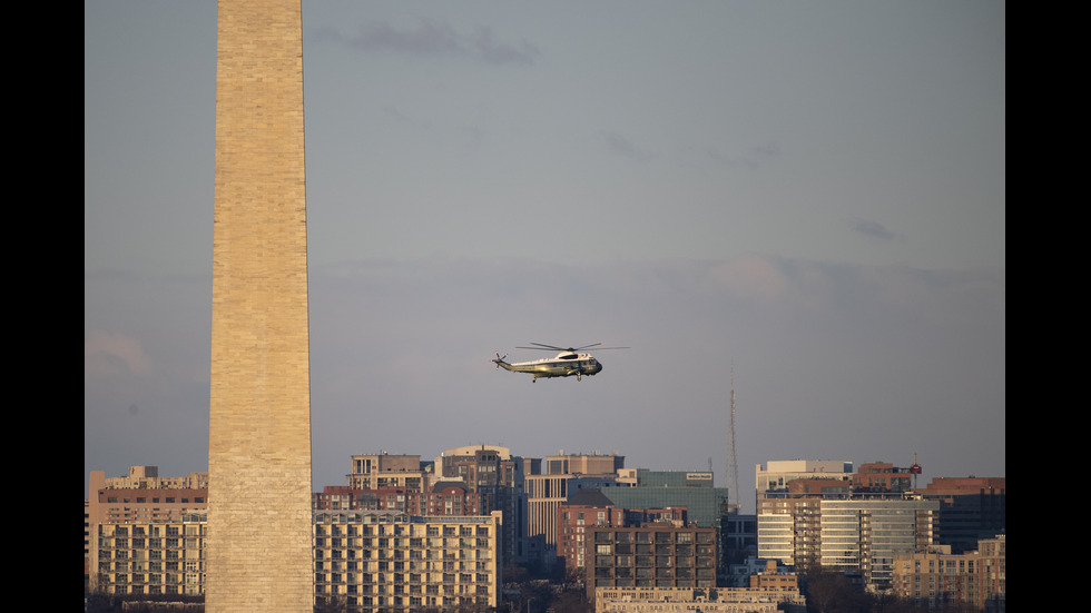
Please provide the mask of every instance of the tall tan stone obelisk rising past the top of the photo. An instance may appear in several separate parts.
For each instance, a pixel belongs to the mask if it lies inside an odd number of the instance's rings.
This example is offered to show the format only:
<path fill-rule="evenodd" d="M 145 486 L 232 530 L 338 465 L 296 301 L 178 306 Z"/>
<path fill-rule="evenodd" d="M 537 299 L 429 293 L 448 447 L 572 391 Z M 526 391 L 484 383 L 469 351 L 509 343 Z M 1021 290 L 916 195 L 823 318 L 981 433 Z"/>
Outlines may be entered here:
<path fill-rule="evenodd" d="M 312 611 L 301 0 L 219 0 L 206 610 Z"/>

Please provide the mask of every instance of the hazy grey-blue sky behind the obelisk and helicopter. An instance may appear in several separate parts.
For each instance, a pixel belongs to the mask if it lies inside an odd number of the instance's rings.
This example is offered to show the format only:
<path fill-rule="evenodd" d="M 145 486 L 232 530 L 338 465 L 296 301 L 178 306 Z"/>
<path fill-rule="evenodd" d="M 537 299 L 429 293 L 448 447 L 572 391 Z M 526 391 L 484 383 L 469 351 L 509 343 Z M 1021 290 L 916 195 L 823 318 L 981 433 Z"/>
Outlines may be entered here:
<path fill-rule="evenodd" d="M 733 370 L 744 504 L 1005 474 L 1003 3 L 303 9 L 316 488 L 475 443 L 726 485 Z M 215 43 L 85 3 L 85 473 L 207 466 Z M 488 362 L 531 342 L 632 348 Z"/>

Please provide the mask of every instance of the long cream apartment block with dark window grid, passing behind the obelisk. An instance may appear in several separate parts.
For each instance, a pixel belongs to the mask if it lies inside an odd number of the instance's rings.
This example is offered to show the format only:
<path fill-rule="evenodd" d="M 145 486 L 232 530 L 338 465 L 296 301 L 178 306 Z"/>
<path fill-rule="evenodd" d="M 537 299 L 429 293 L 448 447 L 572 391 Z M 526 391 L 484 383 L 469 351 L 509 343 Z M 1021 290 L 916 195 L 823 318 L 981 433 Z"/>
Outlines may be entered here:
<path fill-rule="evenodd" d="M 316 513 L 314 594 L 348 611 L 497 606 L 500 513 L 414 517 L 397 512 Z M 206 515 L 180 522 L 99 524 L 95 587 L 110 594 L 203 595 Z"/>

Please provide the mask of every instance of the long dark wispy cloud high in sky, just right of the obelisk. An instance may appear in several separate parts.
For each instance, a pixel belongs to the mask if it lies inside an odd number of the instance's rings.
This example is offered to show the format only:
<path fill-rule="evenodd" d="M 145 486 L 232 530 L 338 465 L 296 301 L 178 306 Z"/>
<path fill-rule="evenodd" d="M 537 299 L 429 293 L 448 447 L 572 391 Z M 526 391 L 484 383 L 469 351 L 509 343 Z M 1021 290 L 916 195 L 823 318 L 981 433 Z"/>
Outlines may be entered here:
<path fill-rule="evenodd" d="M 461 32 L 442 21 L 420 19 L 407 28 L 386 22 L 361 26 L 356 33 L 343 37 L 324 28 L 315 32 L 318 40 L 333 40 L 375 53 L 395 53 L 420 58 L 458 58 L 490 65 L 532 65 L 540 56 L 538 47 L 522 40 L 511 42 L 498 37 L 491 28 L 479 26 Z"/>

